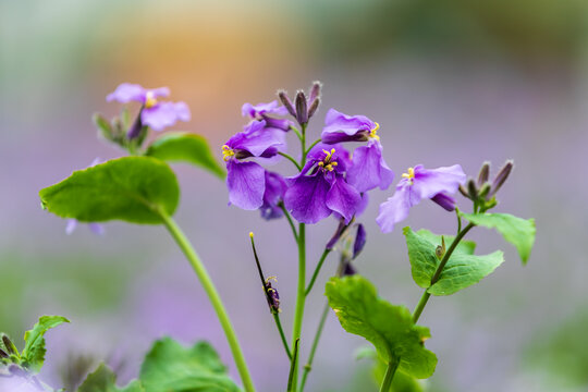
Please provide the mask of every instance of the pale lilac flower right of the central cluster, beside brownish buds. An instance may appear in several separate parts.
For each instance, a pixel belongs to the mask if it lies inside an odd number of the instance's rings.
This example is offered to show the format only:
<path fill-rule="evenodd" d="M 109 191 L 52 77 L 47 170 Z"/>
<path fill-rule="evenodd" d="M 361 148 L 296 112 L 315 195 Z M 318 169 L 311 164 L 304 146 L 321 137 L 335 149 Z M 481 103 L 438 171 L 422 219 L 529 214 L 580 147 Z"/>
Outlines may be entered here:
<path fill-rule="evenodd" d="M 460 164 L 438 169 L 425 169 L 422 164 L 408 168 L 408 173 L 396 185 L 396 192 L 380 205 L 380 215 L 376 219 L 383 233 L 389 233 L 394 224 L 408 216 L 411 207 L 421 199 L 437 201 L 446 210 L 452 210 L 455 200 L 448 194 L 457 191 L 465 183 L 466 175 Z"/>

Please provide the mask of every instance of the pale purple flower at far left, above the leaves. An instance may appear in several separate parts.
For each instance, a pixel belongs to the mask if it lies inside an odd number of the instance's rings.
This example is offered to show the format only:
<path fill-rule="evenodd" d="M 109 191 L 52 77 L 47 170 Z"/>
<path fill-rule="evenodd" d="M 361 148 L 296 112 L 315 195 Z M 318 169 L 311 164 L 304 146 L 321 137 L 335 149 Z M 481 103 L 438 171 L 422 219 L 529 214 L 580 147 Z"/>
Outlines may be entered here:
<path fill-rule="evenodd" d="M 168 87 L 143 88 L 137 84 L 123 83 L 107 96 L 107 101 L 127 103 L 131 101 L 143 105 L 140 122 L 155 131 L 175 124 L 176 121 L 189 121 L 189 109 L 185 102 L 160 102 L 158 98 L 167 98 L 170 95 Z"/>

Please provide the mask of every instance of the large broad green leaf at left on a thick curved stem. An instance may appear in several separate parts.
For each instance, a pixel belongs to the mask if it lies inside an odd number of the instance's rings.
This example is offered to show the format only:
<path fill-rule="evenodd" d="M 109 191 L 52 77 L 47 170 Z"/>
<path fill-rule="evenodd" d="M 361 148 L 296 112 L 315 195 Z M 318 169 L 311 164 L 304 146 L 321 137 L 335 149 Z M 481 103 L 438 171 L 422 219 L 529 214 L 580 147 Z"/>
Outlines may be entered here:
<path fill-rule="evenodd" d="M 175 174 L 166 162 L 124 157 L 73 172 L 39 192 L 42 206 L 62 218 L 82 222 L 120 219 L 161 223 L 158 210 L 173 215 L 180 199 Z"/>

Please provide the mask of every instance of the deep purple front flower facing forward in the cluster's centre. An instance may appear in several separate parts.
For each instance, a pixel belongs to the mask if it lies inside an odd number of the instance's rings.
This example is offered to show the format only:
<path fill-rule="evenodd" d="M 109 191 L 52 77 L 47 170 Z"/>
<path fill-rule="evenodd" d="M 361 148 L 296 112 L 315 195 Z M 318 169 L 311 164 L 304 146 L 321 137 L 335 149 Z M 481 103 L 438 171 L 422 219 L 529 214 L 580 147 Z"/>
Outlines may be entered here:
<path fill-rule="evenodd" d="M 348 151 L 341 146 L 329 151 L 329 147 L 333 146 L 315 146 L 301 174 L 290 180 L 284 205 L 302 223 L 317 223 L 333 212 L 348 223 L 362 204 L 359 192 L 345 180 L 351 163 Z"/>

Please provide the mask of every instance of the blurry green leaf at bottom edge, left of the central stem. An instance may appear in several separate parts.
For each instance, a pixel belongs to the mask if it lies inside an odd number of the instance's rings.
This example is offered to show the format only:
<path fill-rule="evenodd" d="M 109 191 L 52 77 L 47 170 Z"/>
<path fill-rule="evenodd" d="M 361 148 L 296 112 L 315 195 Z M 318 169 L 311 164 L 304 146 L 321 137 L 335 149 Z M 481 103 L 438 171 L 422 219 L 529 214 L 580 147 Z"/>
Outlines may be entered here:
<path fill-rule="evenodd" d="M 207 342 L 185 348 L 174 340 L 157 341 L 140 367 L 147 392 L 233 392 L 238 388 Z"/>

